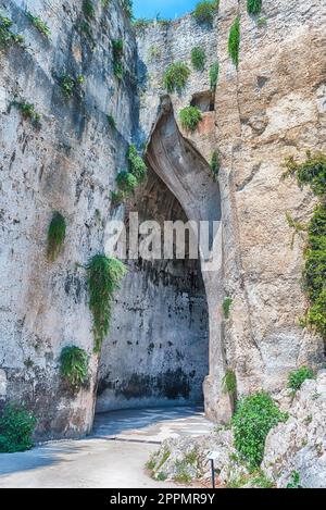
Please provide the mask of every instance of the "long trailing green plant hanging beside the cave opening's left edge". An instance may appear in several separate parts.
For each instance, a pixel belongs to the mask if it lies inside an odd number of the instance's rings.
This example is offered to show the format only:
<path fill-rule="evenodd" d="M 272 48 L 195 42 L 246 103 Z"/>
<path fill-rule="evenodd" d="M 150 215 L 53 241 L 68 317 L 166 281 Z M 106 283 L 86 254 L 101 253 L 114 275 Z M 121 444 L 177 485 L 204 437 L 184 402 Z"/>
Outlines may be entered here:
<path fill-rule="evenodd" d="M 104 254 L 95 256 L 87 265 L 89 308 L 93 318 L 95 352 L 100 352 L 109 333 L 111 307 L 115 290 L 126 275 L 126 266 Z"/>

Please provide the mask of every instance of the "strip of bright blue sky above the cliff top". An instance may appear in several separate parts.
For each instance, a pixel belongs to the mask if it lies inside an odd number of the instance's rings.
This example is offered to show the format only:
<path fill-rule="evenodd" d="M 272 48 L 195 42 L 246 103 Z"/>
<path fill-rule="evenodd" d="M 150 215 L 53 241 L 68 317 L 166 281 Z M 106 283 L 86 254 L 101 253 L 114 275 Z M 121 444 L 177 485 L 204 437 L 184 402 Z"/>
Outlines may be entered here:
<path fill-rule="evenodd" d="M 192 11 L 198 0 L 134 0 L 135 17 L 154 17 L 156 13 L 161 17 L 174 18 L 186 12 Z"/>

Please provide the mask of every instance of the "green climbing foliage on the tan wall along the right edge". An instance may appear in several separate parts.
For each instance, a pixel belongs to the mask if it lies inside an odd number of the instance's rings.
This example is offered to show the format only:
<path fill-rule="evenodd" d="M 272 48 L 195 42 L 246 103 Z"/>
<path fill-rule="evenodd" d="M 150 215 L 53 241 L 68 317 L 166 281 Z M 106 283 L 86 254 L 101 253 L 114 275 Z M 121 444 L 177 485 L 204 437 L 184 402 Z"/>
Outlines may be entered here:
<path fill-rule="evenodd" d="M 310 309 L 304 325 L 314 327 L 326 339 L 326 156 L 308 152 L 302 163 L 297 163 L 291 157 L 285 166 L 284 178 L 296 176 L 299 186 L 310 185 L 321 200 L 308 225 L 303 287 L 310 299 Z"/>

